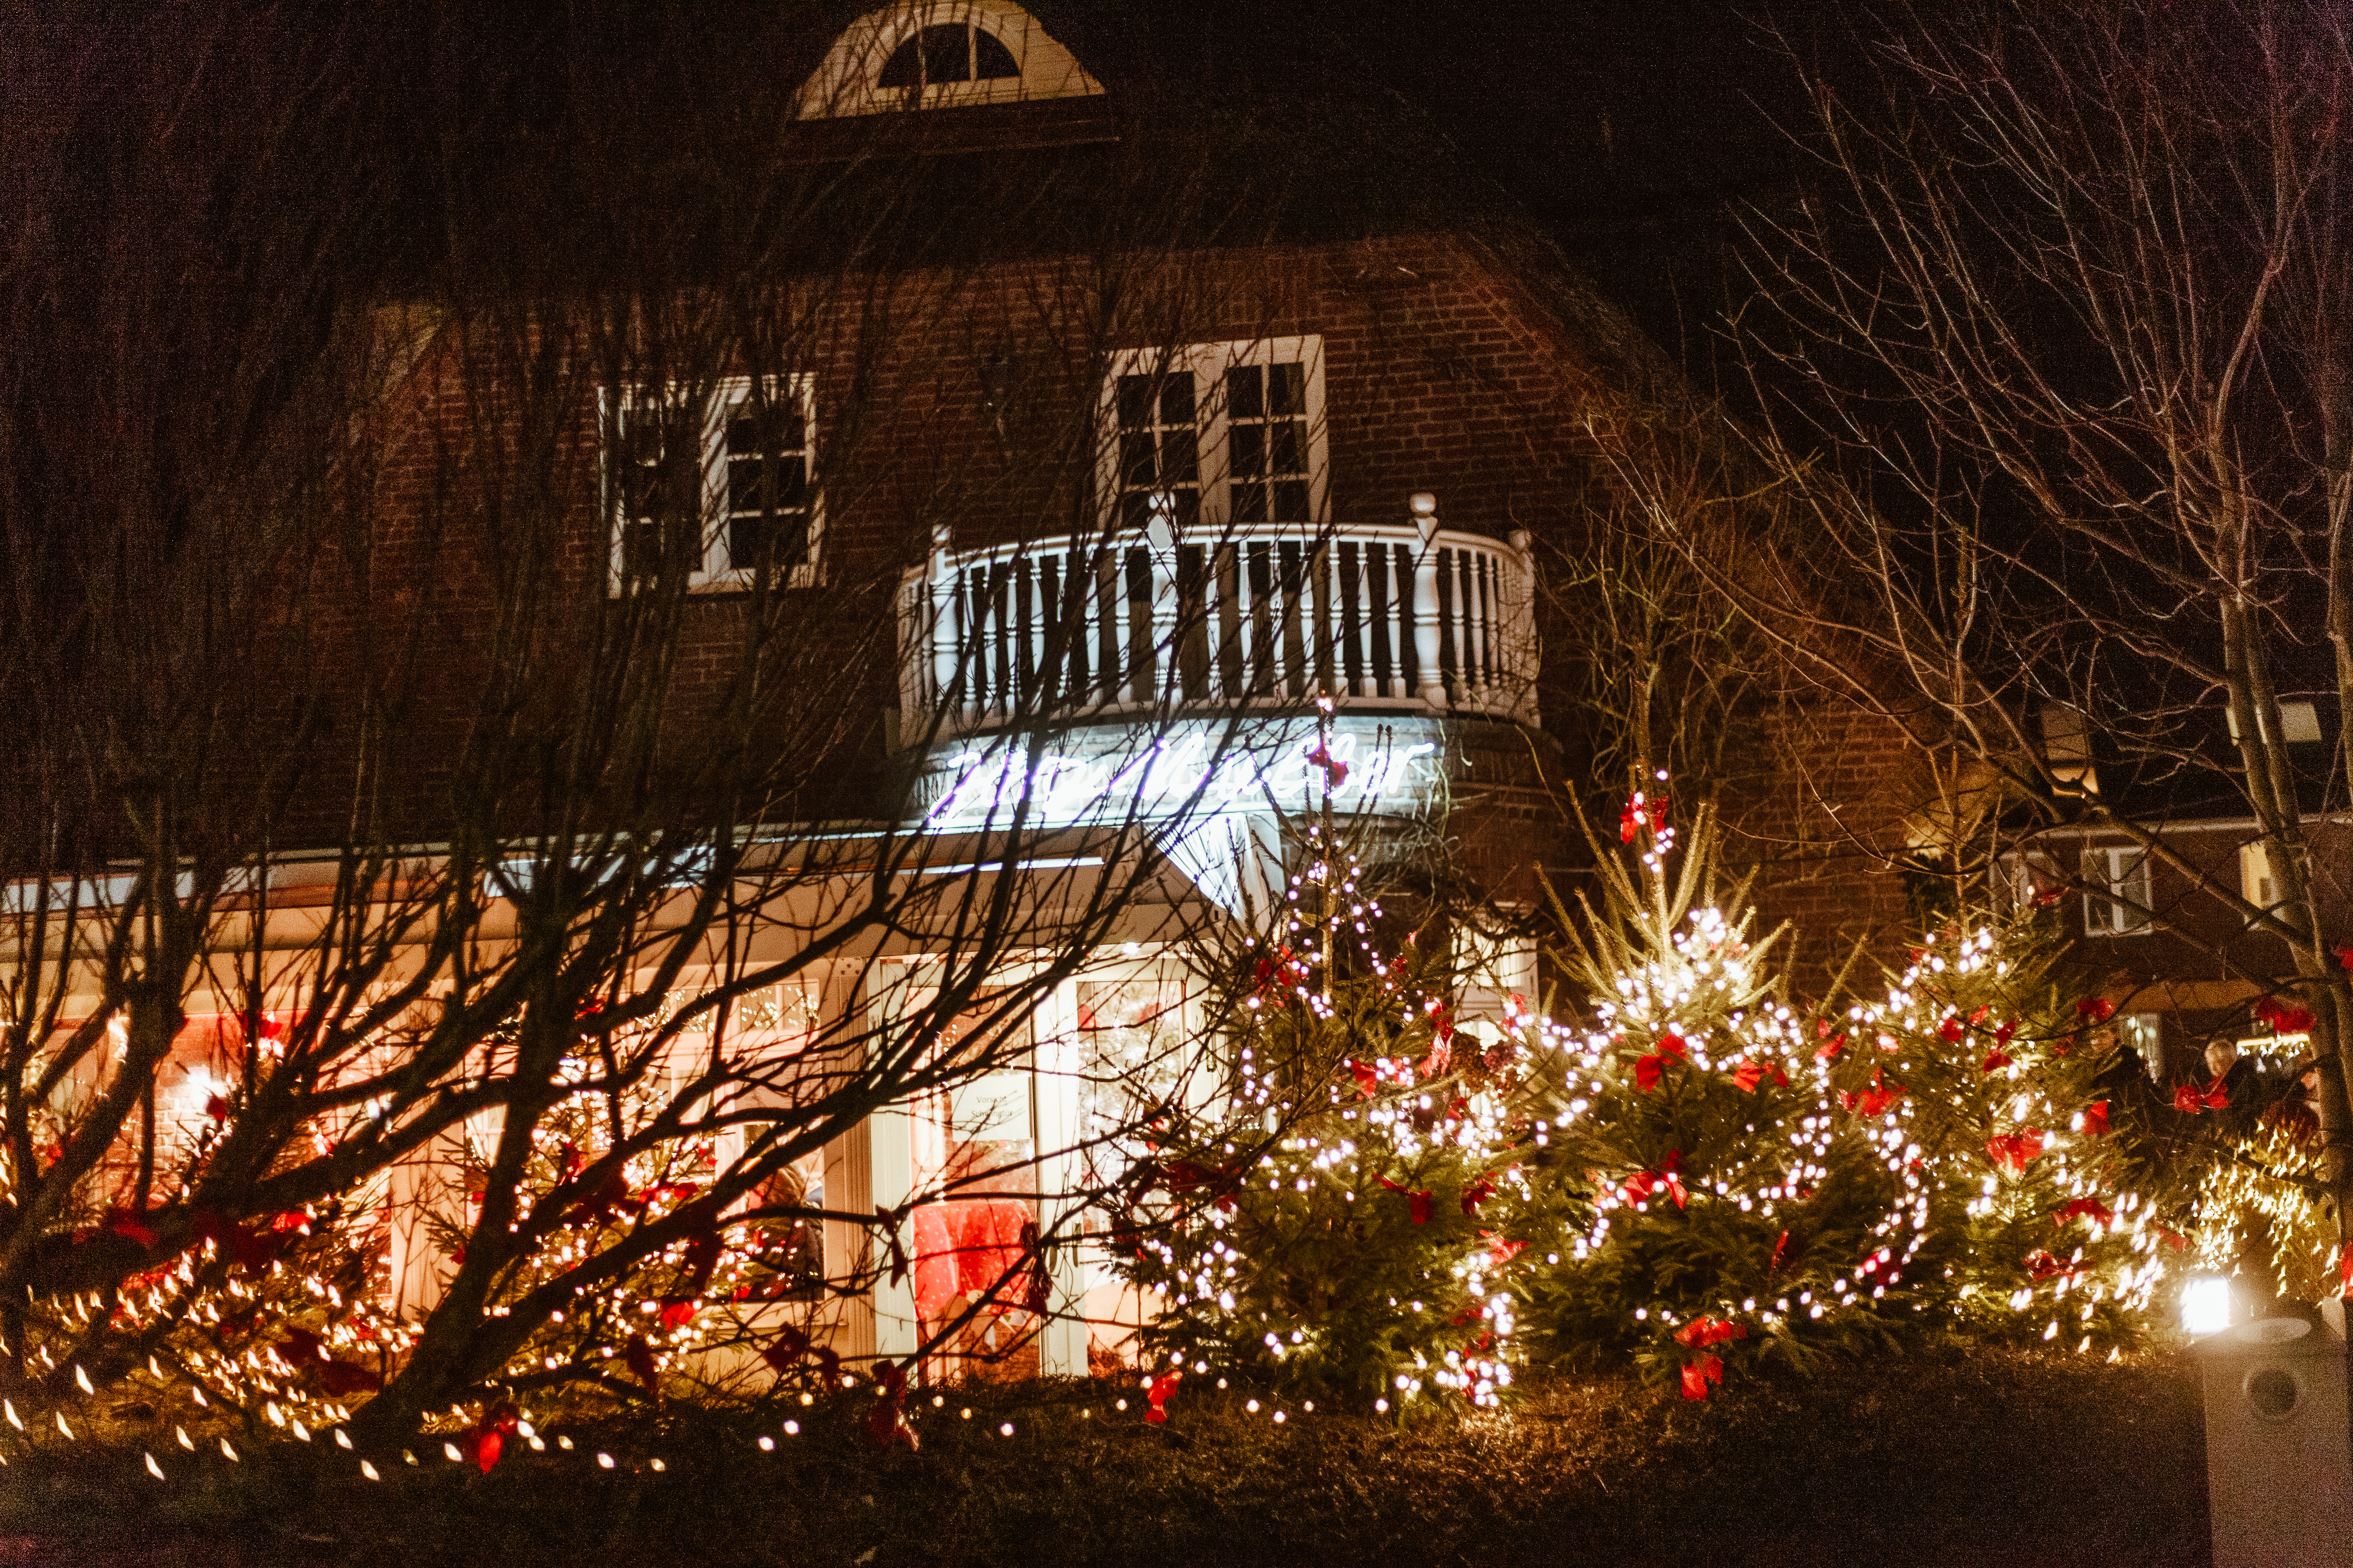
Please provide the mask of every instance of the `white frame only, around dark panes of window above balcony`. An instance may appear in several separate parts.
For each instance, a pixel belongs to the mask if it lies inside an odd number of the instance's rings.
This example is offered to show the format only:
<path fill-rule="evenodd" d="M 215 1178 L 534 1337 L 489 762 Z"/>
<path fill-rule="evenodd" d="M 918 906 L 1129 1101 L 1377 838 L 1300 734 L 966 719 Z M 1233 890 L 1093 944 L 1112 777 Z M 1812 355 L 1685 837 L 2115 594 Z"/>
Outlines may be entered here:
<path fill-rule="evenodd" d="M 1257 364 L 1261 369 L 1275 364 L 1299 364 L 1301 367 L 1301 404 L 1308 425 L 1306 447 L 1306 477 L 1308 477 L 1308 517 L 1306 522 L 1289 524 L 1235 524 L 1233 522 L 1233 463 L 1228 461 L 1228 418 L 1226 418 L 1226 371 L 1240 369 L 1245 364 Z M 1096 425 L 1101 440 L 1096 442 L 1096 487 L 1094 494 L 1101 498 L 1099 510 L 1106 527 L 1120 524 L 1120 501 L 1122 501 L 1122 463 L 1120 463 L 1120 378 L 1122 376 L 1151 376 L 1169 371 L 1191 371 L 1195 388 L 1195 414 L 1193 423 L 1198 430 L 1200 451 L 1200 524 L 1195 538 L 1219 538 L 1233 527 L 1261 529 L 1261 527 L 1294 527 L 1301 531 L 1318 531 L 1329 520 L 1329 496 L 1332 496 L 1332 442 L 1325 428 L 1325 378 L 1322 378 L 1322 339 L 1318 334 L 1280 336 L 1280 339 L 1245 339 L 1233 343 L 1186 343 L 1181 348 L 1122 348 L 1111 355 L 1111 367 L 1104 374 L 1101 397 L 1096 402 Z"/>

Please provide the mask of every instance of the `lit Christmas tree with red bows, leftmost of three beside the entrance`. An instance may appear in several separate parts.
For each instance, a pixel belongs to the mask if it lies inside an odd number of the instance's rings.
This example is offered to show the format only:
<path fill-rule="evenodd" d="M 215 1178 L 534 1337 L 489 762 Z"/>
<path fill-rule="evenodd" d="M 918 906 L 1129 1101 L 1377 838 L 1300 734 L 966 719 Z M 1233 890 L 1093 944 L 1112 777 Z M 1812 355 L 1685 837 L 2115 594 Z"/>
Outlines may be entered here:
<path fill-rule="evenodd" d="M 1162 1300 L 1144 1345 L 1165 1380 L 1506 1399 L 1515 1279 L 1558 1220 L 1529 1180 L 1522 1032 L 1457 1027 L 1452 952 L 1384 912 L 1329 813 L 1306 830 L 1278 929 L 1217 961 L 1209 1093 L 1167 1110 L 1118 1227 Z"/>

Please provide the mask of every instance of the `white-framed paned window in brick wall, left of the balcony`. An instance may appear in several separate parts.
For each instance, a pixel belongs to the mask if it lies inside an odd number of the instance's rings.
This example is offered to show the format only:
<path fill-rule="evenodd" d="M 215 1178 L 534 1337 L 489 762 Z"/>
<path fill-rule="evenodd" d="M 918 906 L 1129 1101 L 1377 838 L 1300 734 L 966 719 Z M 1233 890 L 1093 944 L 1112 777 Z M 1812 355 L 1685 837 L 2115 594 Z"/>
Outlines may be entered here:
<path fill-rule="evenodd" d="M 612 585 L 685 571 L 694 592 L 816 583 L 812 376 L 600 390 Z"/>

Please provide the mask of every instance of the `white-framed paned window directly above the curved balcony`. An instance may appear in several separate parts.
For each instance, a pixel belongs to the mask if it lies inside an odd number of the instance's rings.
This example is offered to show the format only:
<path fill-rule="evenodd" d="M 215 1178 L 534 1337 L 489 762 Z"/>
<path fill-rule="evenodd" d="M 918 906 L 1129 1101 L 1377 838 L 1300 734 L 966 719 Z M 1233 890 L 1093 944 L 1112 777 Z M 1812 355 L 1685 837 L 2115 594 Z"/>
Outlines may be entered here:
<path fill-rule="evenodd" d="M 1165 512 L 1200 529 L 1325 520 L 1322 339 L 1287 336 L 1113 355 L 1099 494 L 1122 529 Z"/>

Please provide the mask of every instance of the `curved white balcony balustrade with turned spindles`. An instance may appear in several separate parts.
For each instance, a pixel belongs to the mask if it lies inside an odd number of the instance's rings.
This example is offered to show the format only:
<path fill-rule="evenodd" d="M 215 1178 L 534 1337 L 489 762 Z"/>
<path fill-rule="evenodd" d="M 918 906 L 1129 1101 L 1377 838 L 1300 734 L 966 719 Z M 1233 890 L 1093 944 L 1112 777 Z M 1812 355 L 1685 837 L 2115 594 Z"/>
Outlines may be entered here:
<path fill-rule="evenodd" d="M 899 592 L 901 736 L 1167 708 L 1344 708 L 1537 724 L 1534 562 L 1409 524 L 1228 527 L 953 550 Z M 936 724 L 936 729 L 934 729 Z"/>

